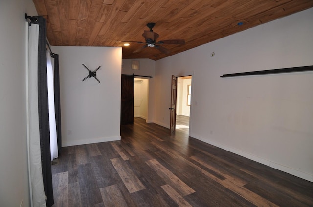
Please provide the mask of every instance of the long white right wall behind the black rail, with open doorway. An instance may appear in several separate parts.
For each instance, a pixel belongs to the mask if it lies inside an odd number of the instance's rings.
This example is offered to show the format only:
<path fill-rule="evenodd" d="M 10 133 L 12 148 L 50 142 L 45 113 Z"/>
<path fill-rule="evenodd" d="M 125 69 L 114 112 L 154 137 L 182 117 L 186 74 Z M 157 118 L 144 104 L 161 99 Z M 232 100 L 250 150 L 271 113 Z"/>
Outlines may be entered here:
<path fill-rule="evenodd" d="M 313 181 L 313 9 L 156 61 L 155 122 L 169 126 L 171 75 L 193 75 L 190 136 Z M 214 57 L 210 54 L 215 52 Z"/>

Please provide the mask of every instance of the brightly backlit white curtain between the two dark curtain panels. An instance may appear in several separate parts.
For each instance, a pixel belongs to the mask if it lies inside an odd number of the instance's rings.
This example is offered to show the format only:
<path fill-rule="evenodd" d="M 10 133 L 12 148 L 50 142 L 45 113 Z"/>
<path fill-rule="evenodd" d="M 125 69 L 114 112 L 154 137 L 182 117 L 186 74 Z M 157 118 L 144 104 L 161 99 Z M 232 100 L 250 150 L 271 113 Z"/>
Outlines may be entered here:
<path fill-rule="evenodd" d="M 57 128 L 54 111 L 54 87 L 53 68 L 50 51 L 47 51 L 47 76 L 48 76 L 48 101 L 49 101 L 49 125 L 50 125 L 50 151 L 51 161 L 58 157 Z"/>

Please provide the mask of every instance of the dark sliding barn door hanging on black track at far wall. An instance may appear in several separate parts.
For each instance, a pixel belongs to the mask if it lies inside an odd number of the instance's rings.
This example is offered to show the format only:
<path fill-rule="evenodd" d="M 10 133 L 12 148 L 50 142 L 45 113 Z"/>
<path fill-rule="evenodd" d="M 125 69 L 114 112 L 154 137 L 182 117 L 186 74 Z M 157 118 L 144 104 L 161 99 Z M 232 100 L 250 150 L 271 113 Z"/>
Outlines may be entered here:
<path fill-rule="evenodd" d="M 121 125 L 134 124 L 134 76 L 122 75 Z"/>

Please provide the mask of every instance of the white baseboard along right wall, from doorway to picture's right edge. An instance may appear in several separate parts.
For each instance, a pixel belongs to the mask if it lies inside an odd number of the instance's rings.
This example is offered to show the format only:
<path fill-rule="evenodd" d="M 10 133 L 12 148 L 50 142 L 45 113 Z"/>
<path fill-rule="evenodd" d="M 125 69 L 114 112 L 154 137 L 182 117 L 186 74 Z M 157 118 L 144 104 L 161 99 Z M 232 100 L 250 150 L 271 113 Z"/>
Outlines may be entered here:
<path fill-rule="evenodd" d="M 225 145 L 223 145 L 221 143 L 217 143 L 217 142 L 205 139 L 205 138 L 201 138 L 201 137 L 197 137 L 197 136 L 191 136 L 191 137 L 193 137 L 195 139 L 199 139 L 199 140 L 201 140 L 201 141 L 203 141 L 205 143 L 208 143 L 210 145 L 213 145 L 215 147 L 219 147 L 219 148 L 221 148 L 223 150 L 230 151 L 232 153 L 235 153 L 235 154 L 238 154 L 240 156 L 246 157 L 247 159 L 253 160 L 253 161 L 261 163 L 263 165 L 267 165 L 267 166 L 269 166 L 271 168 L 278 169 L 280 171 L 286 172 L 288 174 L 294 175 L 294 176 L 302 178 L 304 180 L 313 182 L 313 175 L 310 175 L 310 174 L 308 174 L 306 172 L 302 172 L 302 171 L 299 171 L 299 170 L 296 170 L 296 169 L 292 169 L 292 168 L 283 166 L 283 165 L 278 164 L 278 163 L 274 163 L 274 162 L 266 160 L 266 159 L 264 159 L 262 157 L 258 157 L 258 156 L 255 156 L 253 154 L 250 154 L 250 153 L 247 153 L 247 152 L 244 152 L 244 151 L 240 151 L 240 150 L 237 150 L 237 149 L 234 149 L 234 148 L 230 148 L 230 147 L 225 146 Z"/>

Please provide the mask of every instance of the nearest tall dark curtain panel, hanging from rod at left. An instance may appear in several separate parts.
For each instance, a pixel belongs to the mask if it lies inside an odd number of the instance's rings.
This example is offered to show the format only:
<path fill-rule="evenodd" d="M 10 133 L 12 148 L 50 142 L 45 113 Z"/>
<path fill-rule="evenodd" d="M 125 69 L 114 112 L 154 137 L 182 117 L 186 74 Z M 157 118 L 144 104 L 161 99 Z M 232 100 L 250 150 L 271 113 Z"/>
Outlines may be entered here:
<path fill-rule="evenodd" d="M 38 39 L 38 113 L 39 113 L 39 136 L 41 162 L 44 180 L 45 195 L 47 196 L 47 207 L 54 204 L 51 172 L 50 152 L 50 129 L 48 108 L 48 86 L 47 86 L 47 60 L 46 60 L 46 19 L 36 16 L 39 24 Z"/>

